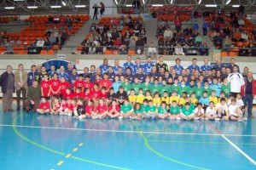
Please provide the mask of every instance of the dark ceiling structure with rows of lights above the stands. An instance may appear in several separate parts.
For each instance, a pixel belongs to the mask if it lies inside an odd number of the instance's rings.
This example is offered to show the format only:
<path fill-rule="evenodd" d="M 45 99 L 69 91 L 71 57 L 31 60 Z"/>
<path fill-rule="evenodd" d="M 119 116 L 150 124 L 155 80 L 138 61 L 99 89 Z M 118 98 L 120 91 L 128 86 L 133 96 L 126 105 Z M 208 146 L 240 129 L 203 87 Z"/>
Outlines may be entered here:
<path fill-rule="evenodd" d="M 90 1 L 93 0 L 1 0 L 0 14 L 88 14 Z M 102 2 L 104 3 L 104 0 Z M 117 3 L 115 7 L 105 4 L 106 8 L 129 8 L 133 0 L 113 0 L 113 2 Z M 147 13 L 148 8 L 155 4 L 193 6 L 197 11 L 215 9 L 236 11 L 237 7 L 233 5 L 243 4 L 247 13 L 256 14 L 256 0 L 140 0 L 140 2 L 141 11 L 144 13 Z M 207 4 L 217 4 L 217 7 L 209 8 L 206 7 Z M 52 6 L 59 8 L 52 8 Z"/>

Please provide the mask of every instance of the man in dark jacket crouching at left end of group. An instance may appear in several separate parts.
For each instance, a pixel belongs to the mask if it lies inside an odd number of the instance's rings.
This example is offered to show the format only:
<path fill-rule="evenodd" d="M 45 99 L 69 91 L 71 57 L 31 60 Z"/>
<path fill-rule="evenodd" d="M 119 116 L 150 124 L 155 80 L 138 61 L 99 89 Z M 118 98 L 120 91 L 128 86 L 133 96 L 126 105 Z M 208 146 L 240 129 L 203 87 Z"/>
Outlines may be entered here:
<path fill-rule="evenodd" d="M 38 81 L 34 80 L 32 86 L 27 90 L 27 99 L 25 101 L 26 111 L 36 112 L 41 99 L 41 87 Z"/>

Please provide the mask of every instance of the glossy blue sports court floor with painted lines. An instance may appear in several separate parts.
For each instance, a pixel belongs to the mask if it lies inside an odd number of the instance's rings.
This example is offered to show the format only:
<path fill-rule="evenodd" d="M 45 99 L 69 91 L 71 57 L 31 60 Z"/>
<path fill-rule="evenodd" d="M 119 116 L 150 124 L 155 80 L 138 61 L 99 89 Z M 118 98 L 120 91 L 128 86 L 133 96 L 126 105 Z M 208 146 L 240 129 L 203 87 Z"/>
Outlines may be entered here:
<path fill-rule="evenodd" d="M 251 170 L 256 169 L 256 118 L 78 121 L 1 112 L 0 150 L 1 170 Z"/>

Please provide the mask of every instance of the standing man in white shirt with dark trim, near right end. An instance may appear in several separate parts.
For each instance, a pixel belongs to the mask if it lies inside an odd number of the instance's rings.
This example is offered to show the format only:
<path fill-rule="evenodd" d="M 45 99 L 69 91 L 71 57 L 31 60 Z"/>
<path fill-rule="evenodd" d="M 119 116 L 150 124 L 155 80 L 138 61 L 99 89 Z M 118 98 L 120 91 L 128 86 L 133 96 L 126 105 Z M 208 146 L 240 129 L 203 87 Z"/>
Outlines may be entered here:
<path fill-rule="evenodd" d="M 233 72 L 228 76 L 228 82 L 230 83 L 230 94 L 236 98 L 236 94 L 241 93 L 241 87 L 244 85 L 244 79 L 236 65 L 233 66 Z"/>

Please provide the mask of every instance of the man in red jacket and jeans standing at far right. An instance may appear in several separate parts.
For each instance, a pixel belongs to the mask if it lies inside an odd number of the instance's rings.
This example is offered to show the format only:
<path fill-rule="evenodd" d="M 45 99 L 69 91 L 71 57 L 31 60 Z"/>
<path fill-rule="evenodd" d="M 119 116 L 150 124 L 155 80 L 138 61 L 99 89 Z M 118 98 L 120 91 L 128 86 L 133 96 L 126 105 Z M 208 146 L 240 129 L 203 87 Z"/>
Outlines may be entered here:
<path fill-rule="evenodd" d="M 245 78 L 245 84 L 241 88 L 244 105 L 247 105 L 248 117 L 253 118 L 253 98 L 256 95 L 256 80 L 253 79 L 253 72 L 249 71 Z"/>

